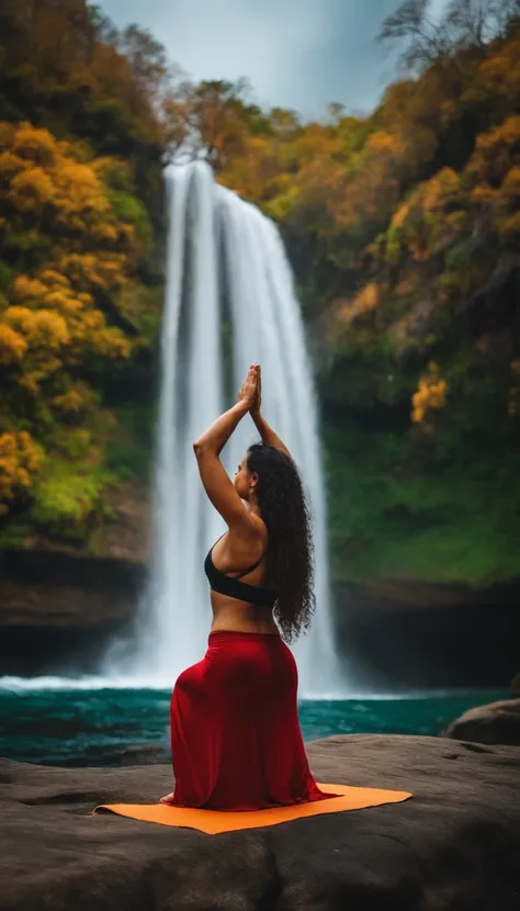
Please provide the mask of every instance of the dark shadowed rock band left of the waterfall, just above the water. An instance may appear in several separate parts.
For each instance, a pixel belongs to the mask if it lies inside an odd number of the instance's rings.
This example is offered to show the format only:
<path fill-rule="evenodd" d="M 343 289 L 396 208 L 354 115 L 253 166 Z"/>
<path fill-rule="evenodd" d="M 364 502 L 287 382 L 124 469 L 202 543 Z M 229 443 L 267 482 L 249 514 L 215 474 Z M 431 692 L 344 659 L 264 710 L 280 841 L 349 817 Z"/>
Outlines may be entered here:
<path fill-rule="evenodd" d="M 3 551 L 0 673 L 97 670 L 110 639 L 135 616 L 146 566 L 59 551 Z"/>

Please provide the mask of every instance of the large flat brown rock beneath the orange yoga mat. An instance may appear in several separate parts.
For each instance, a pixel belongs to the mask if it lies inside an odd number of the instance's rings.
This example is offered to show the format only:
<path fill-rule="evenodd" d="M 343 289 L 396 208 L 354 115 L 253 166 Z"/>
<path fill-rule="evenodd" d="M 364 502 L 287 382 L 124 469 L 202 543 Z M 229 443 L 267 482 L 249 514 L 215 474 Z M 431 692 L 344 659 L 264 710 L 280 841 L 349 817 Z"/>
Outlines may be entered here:
<path fill-rule="evenodd" d="M 318 780 L 414 797 L 212 836 L 91 816 L 155 801 L 169 766 L 3 761 L 1 911 L 518 911 L 520 749 L 364 734 L 308 754 Z"/>

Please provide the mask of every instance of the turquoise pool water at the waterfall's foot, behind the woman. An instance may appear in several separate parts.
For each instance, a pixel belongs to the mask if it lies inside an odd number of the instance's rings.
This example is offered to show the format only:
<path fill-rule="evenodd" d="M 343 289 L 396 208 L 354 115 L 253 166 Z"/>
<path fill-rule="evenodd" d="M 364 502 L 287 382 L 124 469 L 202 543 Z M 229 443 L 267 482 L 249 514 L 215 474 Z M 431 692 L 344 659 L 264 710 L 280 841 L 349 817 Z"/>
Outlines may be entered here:
<path fill-rule="evenodd" d="M 330 734 L 438 735 L 471 706 L 508 696 L 506 690 L 437 691 L 303 701 L 298 711 L 306 742 Z M 139 762 L 140 750 L 142 761 L 169 762 L 169 700 L 170 690 L 74 688 L 72 682 L 66 688 L 4 679 L 0 755 L 50 765 L 117 766 Z"/>

